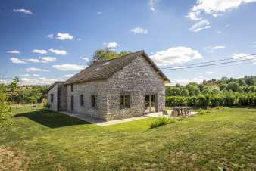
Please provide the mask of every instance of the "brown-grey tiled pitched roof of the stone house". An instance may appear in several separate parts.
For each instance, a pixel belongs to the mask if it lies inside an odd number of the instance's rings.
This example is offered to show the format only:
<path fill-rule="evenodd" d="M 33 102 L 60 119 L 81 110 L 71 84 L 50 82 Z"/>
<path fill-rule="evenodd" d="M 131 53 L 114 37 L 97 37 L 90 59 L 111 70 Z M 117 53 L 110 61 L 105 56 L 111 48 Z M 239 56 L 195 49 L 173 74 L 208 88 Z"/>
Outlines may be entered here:
<path fill-rule="evenodd" d="M 76 82 L 89 82 L 92 80 L 98 79 L 108 79 L 111 75 L 116 73 L 119 70 L 122 70 L 127 64 L 130 64 L 135 58 L 139 57 L 140 55 L 144 56 L 148 62 L 152 64 L 152 67 L 162 76 L 164 80 L 170 82 L 167 79 L 167 76 L 161 72 L 161 70 L 155 65 L 153 61 L 145 54 L 145 51 L 137 51 L 133 54 L 128 54 L 120 58 L 114 58 L 109 61 L 102 61 L 96 64 L 92 64 L 91 66 L 87 67 L 86 69 L 80 71 L 76 75 L 72 76 L 70 79 L 67 79 L 64 84 L 73 84 Z"/>

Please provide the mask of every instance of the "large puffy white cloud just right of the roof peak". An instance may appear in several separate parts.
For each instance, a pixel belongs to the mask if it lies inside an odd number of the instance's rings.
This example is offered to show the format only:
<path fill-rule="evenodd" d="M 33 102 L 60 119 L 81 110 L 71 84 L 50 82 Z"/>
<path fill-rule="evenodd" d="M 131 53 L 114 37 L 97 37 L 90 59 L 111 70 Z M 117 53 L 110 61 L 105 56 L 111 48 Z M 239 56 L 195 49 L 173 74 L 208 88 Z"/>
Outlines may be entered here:
<path fill-rule="evenodd" d="M 203 58 L 198 51 L 183 46 L 171 47 L 164 51 L 157 51 L 150 57 L 158 65 L 181 64 L 192 61 L 193 59 Z"/>

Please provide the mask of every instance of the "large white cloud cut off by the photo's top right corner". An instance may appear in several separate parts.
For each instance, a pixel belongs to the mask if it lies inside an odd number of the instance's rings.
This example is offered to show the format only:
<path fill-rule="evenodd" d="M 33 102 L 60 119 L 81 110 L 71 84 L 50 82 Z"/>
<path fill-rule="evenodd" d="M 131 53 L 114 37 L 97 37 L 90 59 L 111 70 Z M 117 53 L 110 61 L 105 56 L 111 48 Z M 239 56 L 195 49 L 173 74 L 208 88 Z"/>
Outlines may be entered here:
<path fill-rule="evenodd" d="M 232 11 L 240 5 L 251 2 L 256 2 L 256 0 L 197 0 L 187 17 L 191 20 L 201 20 L 202 12 L 218 17 L 226 11 Z"/>

